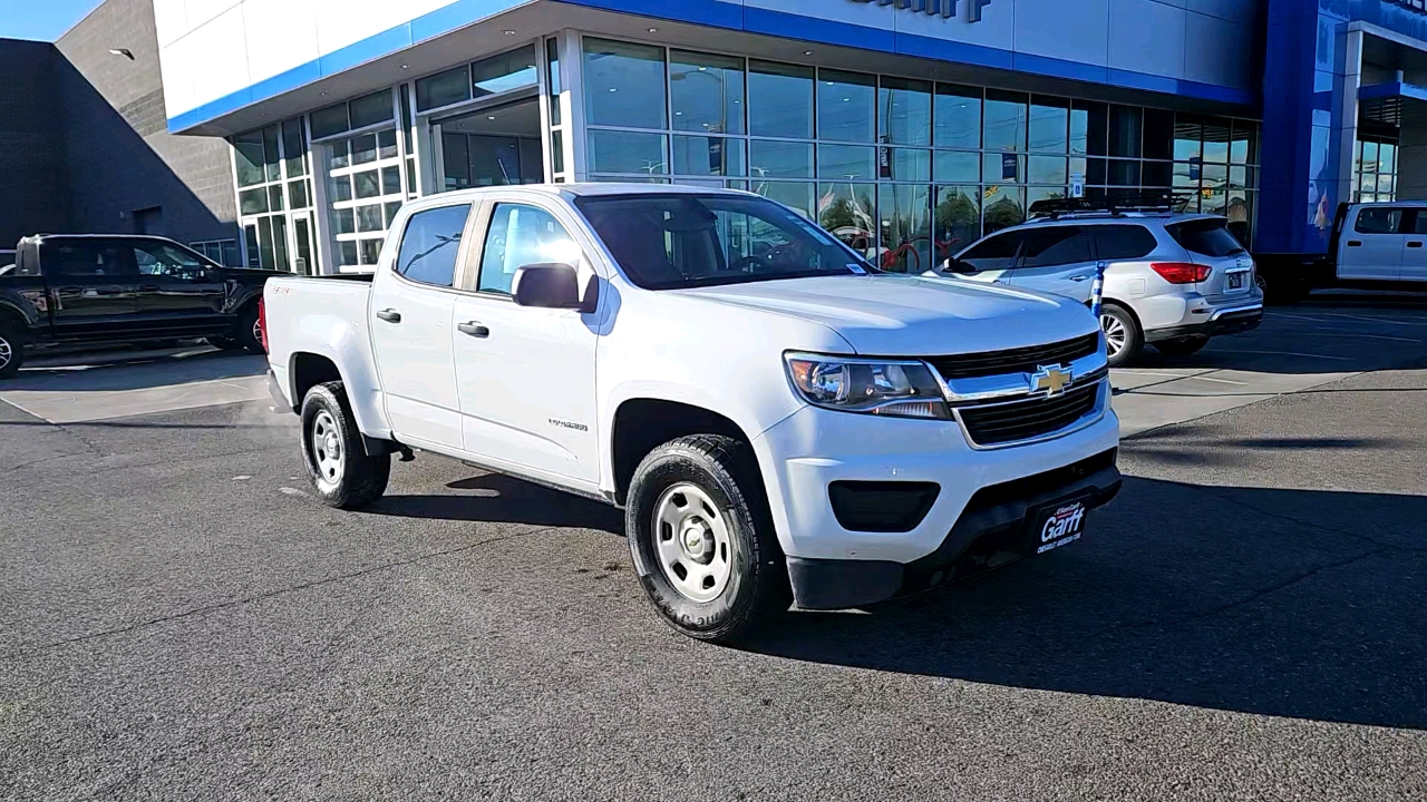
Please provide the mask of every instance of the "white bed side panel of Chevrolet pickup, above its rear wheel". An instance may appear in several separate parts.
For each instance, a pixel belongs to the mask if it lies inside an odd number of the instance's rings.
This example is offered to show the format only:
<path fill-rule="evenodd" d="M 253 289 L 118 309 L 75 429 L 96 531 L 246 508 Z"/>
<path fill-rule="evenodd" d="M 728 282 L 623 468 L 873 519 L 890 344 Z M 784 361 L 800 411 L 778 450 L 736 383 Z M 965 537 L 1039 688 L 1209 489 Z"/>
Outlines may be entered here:
<path fill-rule="evenodd" d="M 332 370 L 362 434 L 391 437 L 368 330 L 371 283 L 334 278 L 273 278 L 264 290 L 268 367 L 294 411 L 314 378 Z"/>

